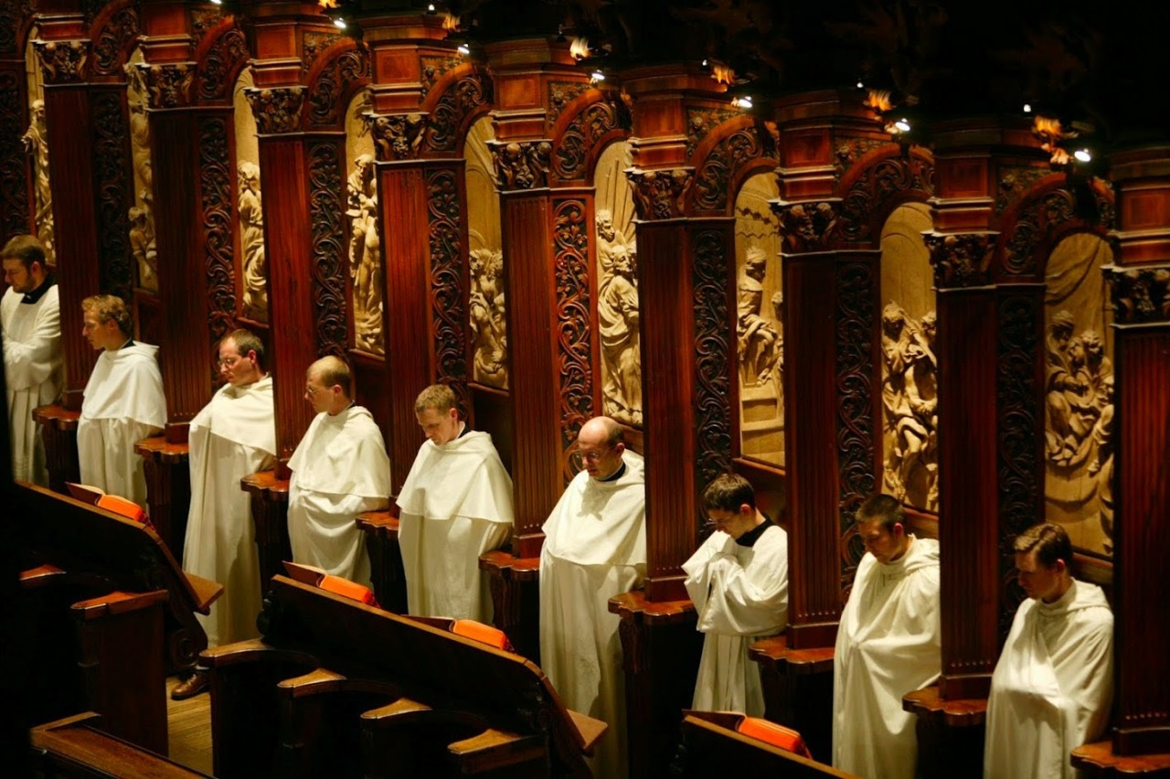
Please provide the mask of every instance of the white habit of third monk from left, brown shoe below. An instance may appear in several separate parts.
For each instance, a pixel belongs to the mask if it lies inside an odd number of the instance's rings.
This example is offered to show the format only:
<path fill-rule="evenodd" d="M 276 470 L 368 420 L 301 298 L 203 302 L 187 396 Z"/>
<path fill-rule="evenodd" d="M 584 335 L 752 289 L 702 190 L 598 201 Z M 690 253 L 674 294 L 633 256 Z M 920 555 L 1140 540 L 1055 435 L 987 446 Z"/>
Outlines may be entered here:
<path fill-rule="evenodd" d="M 240 480 L 276 463 L 273 379 L 223 385 L 191 420 L 191 511 L 183 570 L 223 585 L 211 616 L 199 616 L 207 643 L 253 639 L 260 613 L 260 556 L 252 503 Z"/>

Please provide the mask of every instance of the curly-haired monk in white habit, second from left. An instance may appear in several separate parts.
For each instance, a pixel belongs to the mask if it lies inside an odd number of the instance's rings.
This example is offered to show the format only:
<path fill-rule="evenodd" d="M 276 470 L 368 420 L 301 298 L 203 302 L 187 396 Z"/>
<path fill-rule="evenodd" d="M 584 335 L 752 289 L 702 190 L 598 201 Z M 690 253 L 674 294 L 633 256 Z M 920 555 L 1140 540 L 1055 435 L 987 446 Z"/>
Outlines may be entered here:
<path fill-rule="evenodd" d="M 77 420 L 81 481 L 146 508 L 146 475 L 135 443 L 166 425 L 158 346 L 136 343 L 121 297 L 81 302 L 82 335 L 101 351 L 85 384 Z"/>

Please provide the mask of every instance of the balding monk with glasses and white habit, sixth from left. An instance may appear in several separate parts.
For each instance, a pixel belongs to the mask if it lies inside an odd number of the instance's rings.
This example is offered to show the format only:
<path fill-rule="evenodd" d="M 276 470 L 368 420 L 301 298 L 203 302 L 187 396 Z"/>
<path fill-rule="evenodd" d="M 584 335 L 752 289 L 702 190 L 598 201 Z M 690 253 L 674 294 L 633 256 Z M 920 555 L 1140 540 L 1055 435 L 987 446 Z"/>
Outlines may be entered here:
<path fill-rule="evenodd" d="M 541 667 L 565 706 L 610 725 L 590 760 L 594 777 L 626 777 L 621 641 L 610 599 L 646 579 L 646 480 L 621 426 L 581 426 L 583 470 L 544 523 L 541 551 Z"/>

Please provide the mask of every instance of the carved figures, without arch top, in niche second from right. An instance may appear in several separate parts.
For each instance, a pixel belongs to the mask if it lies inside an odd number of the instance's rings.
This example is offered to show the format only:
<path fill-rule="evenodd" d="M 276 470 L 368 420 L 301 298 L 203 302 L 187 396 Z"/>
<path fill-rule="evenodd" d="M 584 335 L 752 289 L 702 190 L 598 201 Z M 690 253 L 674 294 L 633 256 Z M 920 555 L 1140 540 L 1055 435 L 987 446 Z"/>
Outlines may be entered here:
<path fill-rule="evenodd" d="M 886 490 L 930 511 L 938 510 L 938 358 L 936 318 L 915 322 L 897 303 L 881 316 Z"/>

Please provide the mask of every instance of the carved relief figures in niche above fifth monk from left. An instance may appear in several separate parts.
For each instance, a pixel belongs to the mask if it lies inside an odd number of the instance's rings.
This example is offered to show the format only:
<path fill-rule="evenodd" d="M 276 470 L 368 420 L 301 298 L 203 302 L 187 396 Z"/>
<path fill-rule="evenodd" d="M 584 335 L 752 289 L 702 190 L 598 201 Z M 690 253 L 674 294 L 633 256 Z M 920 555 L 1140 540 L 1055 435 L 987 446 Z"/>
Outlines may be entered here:
<path fill-rule="evenodd" d="M 469 256 L 472 290 L 468 312 L 475 354 L 473 377 L 494 387 L 508 386 L 508 331 L 504 308 L 504 256 L 500 249 L 474 249 Z"/>

